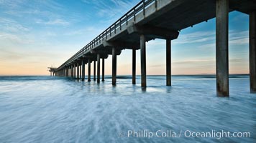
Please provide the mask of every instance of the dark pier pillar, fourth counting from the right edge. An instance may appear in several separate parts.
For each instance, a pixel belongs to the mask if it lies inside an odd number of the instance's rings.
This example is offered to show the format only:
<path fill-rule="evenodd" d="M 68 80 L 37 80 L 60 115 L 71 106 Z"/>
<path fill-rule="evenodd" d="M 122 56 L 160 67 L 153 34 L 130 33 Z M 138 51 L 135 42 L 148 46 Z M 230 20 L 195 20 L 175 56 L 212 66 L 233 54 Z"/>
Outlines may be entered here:
<path fill-rule="evenodd" d="M 140 62 L 141 62 L 141 85 L 147 87 L 147 73 L 146 73 L 146 39 L 145 35 L 140 35 Z"/>

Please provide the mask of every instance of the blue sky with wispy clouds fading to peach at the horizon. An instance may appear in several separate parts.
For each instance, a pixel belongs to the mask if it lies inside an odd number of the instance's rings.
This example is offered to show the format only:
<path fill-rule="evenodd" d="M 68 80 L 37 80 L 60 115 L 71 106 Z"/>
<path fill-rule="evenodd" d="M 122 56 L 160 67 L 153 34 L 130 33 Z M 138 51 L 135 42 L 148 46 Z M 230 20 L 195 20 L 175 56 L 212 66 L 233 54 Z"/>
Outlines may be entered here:
<path fill-rule="evenodd" d="M 0 0 L 0 75 L 49 75 L 140 0 Z M 180 31 L 172 74 L 215 74 L 215 21 Z M 249 73 L 249 16 L 229 13 L 229 74 Z M 147 42 L 147 74 L 165 74 L 165 40 Z M 105 60 L 111 75 L 111 55 Z M 117 74 L 132 74 L 132 50 L 117 56 Z M 140 50 L 137 50 L 140 74 Z"/>

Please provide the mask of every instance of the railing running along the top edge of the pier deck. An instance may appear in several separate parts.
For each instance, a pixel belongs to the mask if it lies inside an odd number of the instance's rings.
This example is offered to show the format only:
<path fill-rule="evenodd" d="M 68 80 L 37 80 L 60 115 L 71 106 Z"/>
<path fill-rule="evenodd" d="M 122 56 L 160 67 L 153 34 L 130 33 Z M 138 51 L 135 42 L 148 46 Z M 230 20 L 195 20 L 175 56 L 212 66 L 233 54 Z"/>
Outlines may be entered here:
<path fill-rule="evenodd" d="M 65 66 L 66 64 L 83 56 L 88 51 L 93 49 L 93 46 L 95 46 L 96 44 L 101 44 L 105 39 L 108 38 L 108 36 L 111 37 L 111 33 L 114 32 L 114 34 L 116 34 L 116 29 L 122 30 L 122 26 L 124 24 L 127 25 L 128 21 L 130 19 L 134 19 L 134 21 L 136 21 L 136 16 L 140 12 L 143 12 L 143 14 L 145 15 L 145 9 L 147 8 L 147 6 L 151 6 L 152 4 L 155 4 L 155 7 L 157 7 L 157 0 L 142 0 L 142 1 L 140 1 L 140 3 L 138 3 L 136 6 L 134 6 L 131 10 L 129 10 L 126 14 L 124 14 L 116 22 L 114 22 L 114 24 L 109 26 L 109 28 L 107 28 L 105 31 L 103 31 L 101 34 L 99 34 L 99 36 L 97 36 L 95 39 L 93 39 L 89 44 L 87 44 L 81 50 L 79 50 L 76 54 L 71 56 L 70 59 L 65 61 L 65 63 L 63 63 L 60 67 L 58 67 L 58 69 L 62 69 L 63 66 Z"/>

